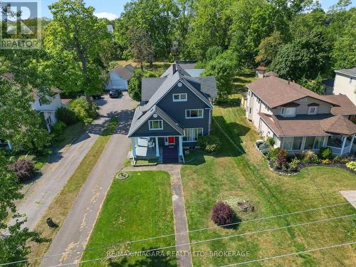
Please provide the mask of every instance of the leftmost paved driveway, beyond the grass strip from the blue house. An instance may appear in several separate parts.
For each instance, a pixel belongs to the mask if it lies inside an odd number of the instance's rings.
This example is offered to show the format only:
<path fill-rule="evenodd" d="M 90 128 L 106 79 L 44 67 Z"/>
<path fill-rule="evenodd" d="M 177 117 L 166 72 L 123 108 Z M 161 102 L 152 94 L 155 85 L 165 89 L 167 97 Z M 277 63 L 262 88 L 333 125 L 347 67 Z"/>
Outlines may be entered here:
<path fill-rule="evenodd" d="M 90 147 L 97 140 L 110 117 L 120 111 L 122 105 L 132 105 L 132 101 L 125 94 L 121 99 L 111 99 L 108 95 L 97 101 L 100 106 L 100 116 L 90 125 L 87 132 L 78 138 L 70 147 L 64 147 L 54 153 L 49 164 L 42 169 L 41 177 L 26 186 L 25 197 L 16 205 L 20 214 L 27 216 L 24 226 L 34 229 L 48 206 L 68 181 L 78 167 Z M 10 221 L 10 224 L 14 220 Z"/>

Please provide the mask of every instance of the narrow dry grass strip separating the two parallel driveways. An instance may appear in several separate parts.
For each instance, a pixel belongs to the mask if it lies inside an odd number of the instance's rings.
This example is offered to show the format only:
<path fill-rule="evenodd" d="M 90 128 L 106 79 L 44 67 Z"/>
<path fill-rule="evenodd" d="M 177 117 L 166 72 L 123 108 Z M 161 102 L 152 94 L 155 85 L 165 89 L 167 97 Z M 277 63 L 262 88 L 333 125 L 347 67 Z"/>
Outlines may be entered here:
<path fill-rule="evenodd" d="M 106 144 L 110 140 L 110 137 L 115 132 L 118 121 L 117 117 L 112 117 L 106 125 L 105 129 L 95 141 L 93 147 L 90 148 L 88 153 L 85 155 L 83 160 L 80 162 L 75 172 L 68 179 L 67 184 L 63 187 L 61 192 L 58 194 L 56 199 L 54 199 L 51 205 L 43 214 L 41 220 L 38 222 L 34 231 L 41 233 L 41 236 L 46 239 L 53 239 L 56 233 L 61 228 L 63 221 L 66 219 L 68 211 L 70 210 L 73 202 L 78 196 L 81 187 L 88 178 L 90 172 L 92 172 L 96 162 L 103 153 Z M 56 224 L 59 225 L 58 228 L 50 228 L 46 224 L 46 219 L 51 217 Z M 42 244 L 30 244 L 31 254 L 28 258 L 37 258 L 44 256 L 47 249 L 51 245 L 51 242 L 46 242 Z M 31 266 L 38 266 L 39 261 L 33 261 Z"/>

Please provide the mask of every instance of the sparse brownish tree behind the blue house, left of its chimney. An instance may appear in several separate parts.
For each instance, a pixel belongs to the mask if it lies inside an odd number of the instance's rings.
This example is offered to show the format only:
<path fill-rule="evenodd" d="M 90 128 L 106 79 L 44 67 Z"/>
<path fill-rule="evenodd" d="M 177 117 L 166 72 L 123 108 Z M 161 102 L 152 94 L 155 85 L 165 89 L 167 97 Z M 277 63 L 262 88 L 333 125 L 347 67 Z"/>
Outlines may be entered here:
<path fill-rule="evenodd" d="M 142 28 L 130 28 L 127 31 L 129 36 L 130 51 L 135 61 L 140 63 L 141 70 L 143 70 L 143 63 L 152 64 L 155 48 L 152 46 L 151 38 L 147 31 Z"/>

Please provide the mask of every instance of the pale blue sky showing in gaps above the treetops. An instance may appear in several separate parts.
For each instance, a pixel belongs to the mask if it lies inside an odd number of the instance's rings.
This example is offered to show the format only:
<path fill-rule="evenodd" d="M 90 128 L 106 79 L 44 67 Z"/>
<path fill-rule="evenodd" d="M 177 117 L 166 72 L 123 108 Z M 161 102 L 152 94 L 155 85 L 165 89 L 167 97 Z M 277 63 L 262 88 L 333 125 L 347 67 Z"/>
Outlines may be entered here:
<path fill-rule="evenodd" d="M 42 11 L 41 16 L 51 18 L 51 12 L 48 10 L 48 5 L 56 0 L 40 0 Z M 95 14 L 98 17 L 105 17 L 108 19 L 116 19 L 124 10 L 125 4 L 128 0 L 85 0 L 88 6 L 94 6 Z M 327 10 L 330 6 L 335 4 L 337 0 L 319 0 L 323 9 Z M 352 1 L 352 6 L 355 6 L 355 0 Z"/>

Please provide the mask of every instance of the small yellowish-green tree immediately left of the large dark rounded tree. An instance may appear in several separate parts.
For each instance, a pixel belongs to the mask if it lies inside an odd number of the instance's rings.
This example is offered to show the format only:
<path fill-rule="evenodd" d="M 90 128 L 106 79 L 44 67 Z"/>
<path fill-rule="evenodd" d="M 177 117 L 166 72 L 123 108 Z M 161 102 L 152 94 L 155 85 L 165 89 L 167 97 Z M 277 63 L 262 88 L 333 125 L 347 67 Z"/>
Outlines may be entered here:
<path fill-rule="evenodd" d="M 282 45 L 283 40 L 279 31 L 275 31 L 271 36 L 263 38 L 258 46 L 258 55 L 255 58 L 256 63 L 264 65 L 271 63 Z"/>

